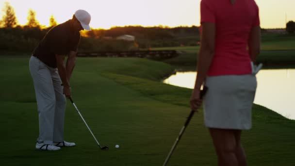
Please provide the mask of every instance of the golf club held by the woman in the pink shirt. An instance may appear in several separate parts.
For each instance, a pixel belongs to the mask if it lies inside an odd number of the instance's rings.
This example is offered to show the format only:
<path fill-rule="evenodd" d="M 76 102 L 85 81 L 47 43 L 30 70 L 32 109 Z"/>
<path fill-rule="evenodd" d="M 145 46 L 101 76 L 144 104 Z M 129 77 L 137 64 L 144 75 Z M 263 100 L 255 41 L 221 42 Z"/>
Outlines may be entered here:
<path fill-rule="evenodd" d="M 203 96 L 206 94 L 207 90 L 208 90 L 208 87 L 207 87 L 207 86 L 204 86 L 203 90 L 201 90 L 201 92 L 200 92 L 200 98 L 201 98 L 201 99 L 202 99 Z M 184 123 L 184 126 L 183 126 L 182 129 L 180 130 L 180 133 L 179 133 L 178 137 L 176 138 L 176 141 L 174 142 L 174 145 L 172 146 L 170 152 L 168 153 L 168 156 L 166 157 L 166 160 L 165 160 L 163 166 L 166 166 L 166 165 L 167 165 L 167 163 L 168 163 L 168 161 L 169 161 L 169 159 L 170 159 L 170 157 L 171 157 L 171 155 L 172 155 L 174 149 L 176 148 L 178 142 L 180 141 L 180 138 L 181 138 L 182 134 L 184 133 L 186 127 L 188 126 L 188 124 L 189 124 L 189 122 L 191 121 L 191 119 L 192 119 L 192 117 L 194 116 L 194 114 L 195 114 L 195 111 L 192 110 L 191 113 L 190 113 L 190 115 L 187 117 L 187 119 L 186 119 L 186 121 L 185 121 L 185 123 Z"/>

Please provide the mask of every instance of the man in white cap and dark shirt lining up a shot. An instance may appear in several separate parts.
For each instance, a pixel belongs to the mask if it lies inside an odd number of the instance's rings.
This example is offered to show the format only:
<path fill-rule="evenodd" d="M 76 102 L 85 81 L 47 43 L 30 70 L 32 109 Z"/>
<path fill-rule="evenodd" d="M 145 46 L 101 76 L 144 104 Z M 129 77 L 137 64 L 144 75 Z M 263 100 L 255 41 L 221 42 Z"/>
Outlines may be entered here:
<path fill-rule="evenodd" d="M 76 145 L 64 140 L 65 96 L 71 96 L 69 80 L 76 62 L 80 31 L 91 30 L 90 20 L 89 13 L 77 10 L 72 19 L 49 30 L 33 51 L 30 72 L 39 113 L 36 149 L 59 150 Z"/>

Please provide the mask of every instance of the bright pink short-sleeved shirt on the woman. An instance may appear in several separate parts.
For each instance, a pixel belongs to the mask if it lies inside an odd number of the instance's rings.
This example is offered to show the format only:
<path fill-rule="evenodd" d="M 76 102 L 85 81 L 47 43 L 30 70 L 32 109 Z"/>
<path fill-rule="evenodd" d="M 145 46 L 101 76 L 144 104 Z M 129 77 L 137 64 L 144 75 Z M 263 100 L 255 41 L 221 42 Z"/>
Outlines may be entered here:
<path fill-rule="evenodd" d="M 247 50 L 252 27 L 259 26 L 259 10 L 254 0 L 201 0 L 201 23 L 215 23 L 215 55 L 209 76 L 250 74 Z"/>

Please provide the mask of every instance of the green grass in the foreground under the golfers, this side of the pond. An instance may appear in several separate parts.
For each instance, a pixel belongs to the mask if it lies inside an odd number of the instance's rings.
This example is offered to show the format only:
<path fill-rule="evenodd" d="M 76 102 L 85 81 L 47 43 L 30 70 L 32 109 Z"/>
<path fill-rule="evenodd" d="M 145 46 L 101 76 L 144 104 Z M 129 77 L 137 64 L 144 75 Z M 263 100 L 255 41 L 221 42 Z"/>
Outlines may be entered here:
<path fill-rule="evenodd" d="M 79 58 L 71 81 L 73 99 L 110 150 L 98 149 L 70 103 L 65 137 L 77 147 L 34 150 L 38 120 L 28 59 L 0 60 L 2 166 L 159 166 L 189 113 L 190 90 L 159 82 L 173 71 L 171 66 L 145 59 Z M 202 118 L 201 112 L 194 116 L 171 166 L 216 165 Z M 243 135 L 249 165 L 295 165 L 294 129 L 294 120 L 255 105 L 253 129 Z"/>

